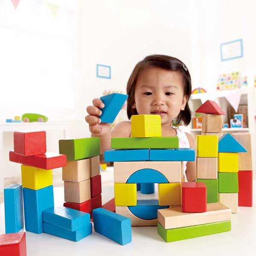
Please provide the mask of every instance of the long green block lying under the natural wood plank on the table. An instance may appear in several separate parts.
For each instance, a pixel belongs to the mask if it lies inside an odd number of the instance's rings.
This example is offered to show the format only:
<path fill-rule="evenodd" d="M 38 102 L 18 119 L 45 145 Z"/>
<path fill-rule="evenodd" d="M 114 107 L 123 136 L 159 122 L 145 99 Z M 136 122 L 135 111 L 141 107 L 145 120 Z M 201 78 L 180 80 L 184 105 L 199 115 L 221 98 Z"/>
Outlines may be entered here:
<path fill-rule="evenodd" d="M 231 221 L 221 221 L 208 224 L 201 224 L 189 227 L 178 227 L 165 230 L 157 223 L 157 232 L 166 242 L 180 241 L 200 236 L 227 232 L 231 230 Z"/>

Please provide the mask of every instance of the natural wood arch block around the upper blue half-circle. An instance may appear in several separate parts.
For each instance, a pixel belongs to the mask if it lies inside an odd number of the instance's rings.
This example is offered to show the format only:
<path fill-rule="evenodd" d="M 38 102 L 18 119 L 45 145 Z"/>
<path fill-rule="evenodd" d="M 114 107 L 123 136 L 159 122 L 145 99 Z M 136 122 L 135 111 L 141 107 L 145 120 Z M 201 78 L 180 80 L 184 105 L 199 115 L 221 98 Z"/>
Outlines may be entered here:
<path fill-rule="evenodd" d="M 126 183 L 129 177 L 138 170 L 153 169 L 166 177 L 169 183 L 180 183 L 181 170 L 183 171 L 183 162 L 175 161 L 141 161 L 141 162 L 114 162 L 114 182 Z M 172 170 L 172 172 L 170 172 Z M 152 177 L 146 176 L 144 183 L 159 183 Z M 137 182 L 140 183 L 140 182 Z"/>

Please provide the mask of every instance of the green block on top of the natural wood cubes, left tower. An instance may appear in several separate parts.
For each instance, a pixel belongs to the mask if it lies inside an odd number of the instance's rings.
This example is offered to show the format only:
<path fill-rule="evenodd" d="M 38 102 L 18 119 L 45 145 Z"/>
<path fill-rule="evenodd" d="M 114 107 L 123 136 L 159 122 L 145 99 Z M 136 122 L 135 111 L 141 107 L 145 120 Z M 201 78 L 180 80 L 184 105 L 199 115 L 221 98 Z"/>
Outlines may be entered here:
<path fill-rule="evenodd" d="M 98 156 L 100 154 L 99 137 L 59 140 L 59 152 L 65 154 L 68 161 Z"/>

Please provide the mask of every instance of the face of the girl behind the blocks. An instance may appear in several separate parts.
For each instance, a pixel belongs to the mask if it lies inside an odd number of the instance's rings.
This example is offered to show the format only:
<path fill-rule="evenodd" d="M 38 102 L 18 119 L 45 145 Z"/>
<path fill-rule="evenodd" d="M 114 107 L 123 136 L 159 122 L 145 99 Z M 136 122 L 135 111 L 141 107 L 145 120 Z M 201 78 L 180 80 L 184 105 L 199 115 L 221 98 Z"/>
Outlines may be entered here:
<path fill-rule="evenodd" d="M 141 71 L 135 86 L 135 104 L 138 114 L 160 115 L 162 125 L 171 125 L 184 110 L 188 100 L 183 95 L 183 81 L 179 72 L 157 67 Z"/>

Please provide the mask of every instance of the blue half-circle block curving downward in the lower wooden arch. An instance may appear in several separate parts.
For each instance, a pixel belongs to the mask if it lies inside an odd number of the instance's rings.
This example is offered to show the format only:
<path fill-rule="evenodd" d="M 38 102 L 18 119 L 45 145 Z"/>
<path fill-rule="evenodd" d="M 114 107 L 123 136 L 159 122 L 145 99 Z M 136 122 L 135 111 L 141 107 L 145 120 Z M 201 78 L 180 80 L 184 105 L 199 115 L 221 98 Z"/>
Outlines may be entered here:
<path fill-rule="evenodd" d="M 136 206 L 128 206 L 129 210 L 138 218 L 153 220 L 157 218 L 157 210 L 169 206 L 159 206 L 157 199 L 137 200 Z"/>

